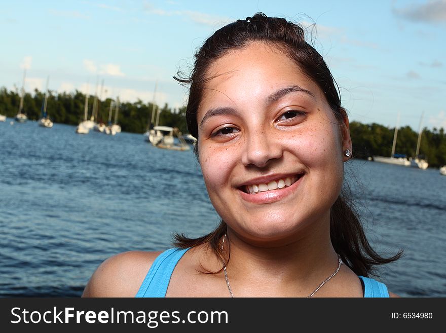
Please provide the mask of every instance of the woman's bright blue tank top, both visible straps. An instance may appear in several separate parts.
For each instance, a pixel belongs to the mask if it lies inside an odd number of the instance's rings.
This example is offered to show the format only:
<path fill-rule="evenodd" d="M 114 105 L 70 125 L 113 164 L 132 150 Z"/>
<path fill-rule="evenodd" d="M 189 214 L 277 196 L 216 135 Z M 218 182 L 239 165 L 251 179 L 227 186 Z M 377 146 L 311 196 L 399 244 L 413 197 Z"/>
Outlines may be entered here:
<path fill-rule="evenodd" d="M 173 270 L 187 250 L 171 248 L 161 253 L 148 270 L 136 297 L 166 297 Z M 384 283 L 363 276 L 359 276 L 359 279 L 364 285 L 364 297 L 389 297 Z"/>

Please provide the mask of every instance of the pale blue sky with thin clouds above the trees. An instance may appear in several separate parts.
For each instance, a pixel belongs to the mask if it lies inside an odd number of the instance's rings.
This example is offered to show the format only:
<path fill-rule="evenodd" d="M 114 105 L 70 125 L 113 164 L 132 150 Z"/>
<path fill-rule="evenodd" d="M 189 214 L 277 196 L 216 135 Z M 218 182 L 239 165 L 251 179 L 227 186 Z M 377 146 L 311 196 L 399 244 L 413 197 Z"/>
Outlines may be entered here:
<path fill-rule="evenodd" d="M 256 12 L 309 28 L 350 120 L 446 128 L 446 0 L 3 1 L 0 86 L 75 89 L 183 105 L 188 72 L 213 31 Z M 157 93 L 154 90 L 157 82 Z"/>

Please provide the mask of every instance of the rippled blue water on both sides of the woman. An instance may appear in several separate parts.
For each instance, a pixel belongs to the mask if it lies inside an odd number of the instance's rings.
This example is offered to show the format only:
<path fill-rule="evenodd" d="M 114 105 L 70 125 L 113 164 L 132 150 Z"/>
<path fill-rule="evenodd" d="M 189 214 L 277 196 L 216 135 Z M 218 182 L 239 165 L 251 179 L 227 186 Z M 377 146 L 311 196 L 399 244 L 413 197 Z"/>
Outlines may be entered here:
<path fill-rule="evenodd" d="M 0 123 L 0 297 L 77 297 L 96 267 L 127 250 L 162 250 L 171 235 L 218 224 L 192 150 L 157 149 L 140 134 Z M 405 297 L 446 297 L 446 177 L 366 161 L 347 179 Z"/>

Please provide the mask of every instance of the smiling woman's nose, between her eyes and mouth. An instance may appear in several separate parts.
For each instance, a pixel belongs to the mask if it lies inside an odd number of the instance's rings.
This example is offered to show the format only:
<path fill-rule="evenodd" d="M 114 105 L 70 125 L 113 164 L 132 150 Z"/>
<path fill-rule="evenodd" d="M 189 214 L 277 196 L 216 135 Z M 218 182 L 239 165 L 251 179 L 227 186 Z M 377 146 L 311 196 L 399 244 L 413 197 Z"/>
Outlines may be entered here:
<path fill-rule="evenodd" d="M 255 131 L 245 138 L 242 163 L 263 168 L 269 161 L 281 158 L 282 153 L 277 137 L 266 131 Z"/>

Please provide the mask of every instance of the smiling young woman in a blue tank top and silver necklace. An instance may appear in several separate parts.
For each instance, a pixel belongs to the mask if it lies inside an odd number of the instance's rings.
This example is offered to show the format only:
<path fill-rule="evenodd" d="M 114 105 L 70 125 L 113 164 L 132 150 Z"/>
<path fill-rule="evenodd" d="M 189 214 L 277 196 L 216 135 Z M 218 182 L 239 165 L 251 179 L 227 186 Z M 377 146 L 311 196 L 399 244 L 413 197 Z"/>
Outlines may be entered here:
<path fill-rule="evenodd" d="M 383 258 L 342 195 L 345 109 L 303 29 L 262 13 L 198 51 L 187 122 L 222 221 L 161 252 L 108 258 L 84 297 L 389 297 Z"/>

